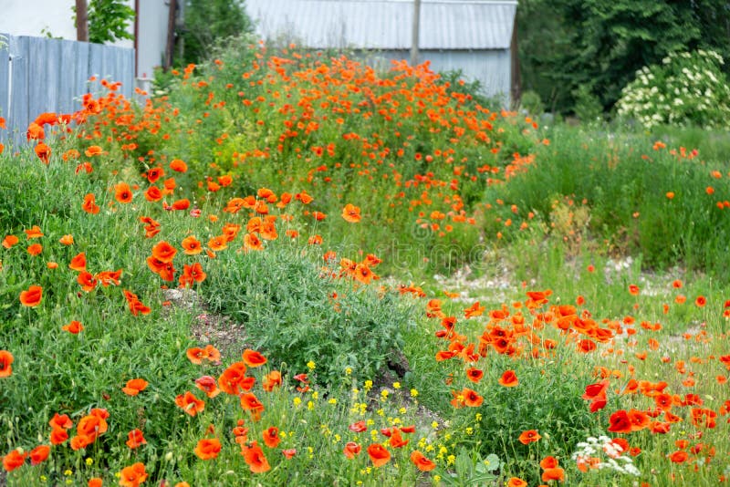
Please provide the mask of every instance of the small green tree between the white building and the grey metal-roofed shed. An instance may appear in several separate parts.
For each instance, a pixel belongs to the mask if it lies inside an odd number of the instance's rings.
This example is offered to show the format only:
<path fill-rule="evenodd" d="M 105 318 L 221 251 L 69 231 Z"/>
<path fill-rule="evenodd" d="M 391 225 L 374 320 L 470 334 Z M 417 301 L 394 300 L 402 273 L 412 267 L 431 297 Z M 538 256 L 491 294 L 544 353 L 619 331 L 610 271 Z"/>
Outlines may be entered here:
<path fill-rule="evenodd" d="M 185 25 L 178 32 L 183 64 L 210 57 L 218 39 L 253 32 L 242 0 L 179 0 L 184 2 Z"/>

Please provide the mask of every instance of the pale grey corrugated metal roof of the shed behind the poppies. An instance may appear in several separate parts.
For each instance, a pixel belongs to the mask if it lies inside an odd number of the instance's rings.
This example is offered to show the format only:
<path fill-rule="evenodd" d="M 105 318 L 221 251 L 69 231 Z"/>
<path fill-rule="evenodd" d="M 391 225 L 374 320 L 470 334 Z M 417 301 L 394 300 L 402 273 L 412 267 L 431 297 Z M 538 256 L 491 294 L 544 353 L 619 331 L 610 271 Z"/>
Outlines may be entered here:
<path fill-rule="evenodd" d="M 266 39 L 314 48 L 410 49 L 412 0 L 245 0 Z M 422 0 L 421 49 L 506 49 L 516 1 Z"/>

